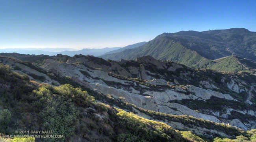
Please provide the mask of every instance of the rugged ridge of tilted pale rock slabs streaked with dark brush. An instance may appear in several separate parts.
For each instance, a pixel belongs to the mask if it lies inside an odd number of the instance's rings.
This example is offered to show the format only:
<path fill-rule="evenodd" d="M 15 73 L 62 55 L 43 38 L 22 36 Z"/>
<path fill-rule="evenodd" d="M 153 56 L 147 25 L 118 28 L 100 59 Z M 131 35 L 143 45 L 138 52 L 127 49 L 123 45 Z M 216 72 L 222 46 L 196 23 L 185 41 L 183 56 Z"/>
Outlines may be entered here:
<path fill-rule="evenodd" d="M 174 100 L 210 101 L 212 97 L 229 100 L 247 106 L 239 100 L 239 93 L 248 93 L 250 84 L 246 78 L 234 77 L 234 74 L 220 74 L 210 70 L 194 70 L 187 66 L 167 60 L 156 60 L 151 56 L 137 58 L 135 61 L 104 60 L 93 56 L 76 55 L 67 61 L 46 59 L 41 70 L 34 70 L 20 61 L 2 58 L 1 62 L 10 66 L 18 66 L 17 70 L 25 74 L 44 76 L 41 82 L 58 85 L 60 82 L 48 74 L 59 77 L 69 77 L 70 80 L 83 87 L 111 95 L 113 98 L 136 105 L 138 108 L 163 112 L 166 114 L 189 115 L 217 123 L 226 123 L 243 129 L 251 129 L 255 121 L 229 118 L 230 112 L 236 111 L 246 116 L 256 117 L 254 103 L 242 109 L 226 108 L 226 111 L 216 111 L 201 108 L 206 111 L 193 110 L 186 104 L 174 103 Z M 206 76 L 208 78 L 206 79 Z M 244 75 L 244 76 L 247 76 Z M 31 79 L 35 79 L 30 76 Z M 215 79 L 217 78 L 217 79 Z M 196 80 L 195 80 L 196 79 Z M 35 79 L 36 80 L 36 79 Z M 138 114 L 148 117 L 143 112 Z M 207 112 L 211 111 L 211 113 Z M 154 119 L 150 117 L 151 119 Z M 177 129 L 192 129 L 178 122 L 164 122 Z M 201 135 L 205 128 L 194 129 Z M 215 130 L 208 130 L 216 134 Z M 223 136 L 226 135 L 223 133 Z"/>

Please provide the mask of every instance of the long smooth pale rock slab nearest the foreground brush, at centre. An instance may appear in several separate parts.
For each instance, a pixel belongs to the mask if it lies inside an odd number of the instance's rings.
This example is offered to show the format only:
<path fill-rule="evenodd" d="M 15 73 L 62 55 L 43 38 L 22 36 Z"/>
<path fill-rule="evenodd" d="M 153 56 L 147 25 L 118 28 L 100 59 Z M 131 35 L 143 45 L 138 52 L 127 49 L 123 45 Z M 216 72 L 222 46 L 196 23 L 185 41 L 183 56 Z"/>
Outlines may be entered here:
<path fill-rule="evenodd" d="M 180 105 L 178 103 L 167 103 L 163 101 L 165 99 L 161 97 L 141 96 L 138 94 L 132 94 L 123 90 L 119 90 L 113 87 L 108 87 L 102 84 L 93 84 L 93 83 L 88 83 L 88 84 L 95 90 L 102 92 L 104 94 L 111 94 L 115 98 L 122 97 L 124 98 L 123 101 L 132 103 L 137 107 L 142 107 L 144 109 L 159 111 L 159 112 L 169 113 L 169 114 L 191 115 L 197 118 L 203 118 L 213 122 L 220 122 L 220 120 L 215 116 L 210 116 L 207 114 L 202 114 L 202 113 L 193 111 L 188 107 L 184 105 Z M 176 108 L 177 110 L 172 108 Z"/>

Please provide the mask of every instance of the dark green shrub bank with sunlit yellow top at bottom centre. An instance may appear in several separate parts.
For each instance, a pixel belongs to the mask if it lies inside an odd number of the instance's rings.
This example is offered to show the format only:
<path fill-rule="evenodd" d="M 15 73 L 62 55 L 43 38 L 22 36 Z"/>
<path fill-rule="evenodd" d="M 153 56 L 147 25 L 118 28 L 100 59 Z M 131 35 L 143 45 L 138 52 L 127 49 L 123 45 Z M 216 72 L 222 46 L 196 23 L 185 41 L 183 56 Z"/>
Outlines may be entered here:
<path fill-rule="evenodd" d="M 179 132 L 162 122 L 148 120 L 121 109 L 113 114 L 116 129 L 120 129 L 118 142 L 185 142 Z"/>

